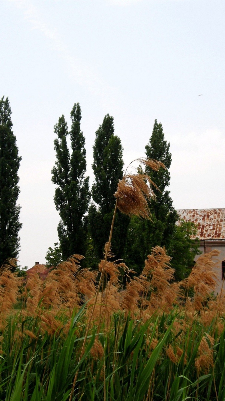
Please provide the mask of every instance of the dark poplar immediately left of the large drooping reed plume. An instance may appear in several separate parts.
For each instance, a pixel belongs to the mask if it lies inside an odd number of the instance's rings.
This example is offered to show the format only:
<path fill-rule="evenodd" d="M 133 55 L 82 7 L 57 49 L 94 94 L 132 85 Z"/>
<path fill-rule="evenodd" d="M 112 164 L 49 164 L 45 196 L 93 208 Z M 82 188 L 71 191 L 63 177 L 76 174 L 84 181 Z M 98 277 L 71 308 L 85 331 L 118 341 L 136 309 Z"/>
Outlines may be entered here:
<path fill-rule="evenodd" d="M 102 258 L 104 244 L 108 241 L 112 215 L 115 207 L 114 193 L 118 181 L 123 177 L 123 148 L 121 140 L 114 135 L 113 117 L 105 115 L 102 124 L 95 133 L 93 147 L 95 182 L 92 186 L 92 198 L 88 213 L 90 235 L 97 260 Z M 97 207 L 96 207 L 97 205 Z M 123 255 L 127 237 L 129 217 L 117 213 L 113 229 L 112 251 Z"/>

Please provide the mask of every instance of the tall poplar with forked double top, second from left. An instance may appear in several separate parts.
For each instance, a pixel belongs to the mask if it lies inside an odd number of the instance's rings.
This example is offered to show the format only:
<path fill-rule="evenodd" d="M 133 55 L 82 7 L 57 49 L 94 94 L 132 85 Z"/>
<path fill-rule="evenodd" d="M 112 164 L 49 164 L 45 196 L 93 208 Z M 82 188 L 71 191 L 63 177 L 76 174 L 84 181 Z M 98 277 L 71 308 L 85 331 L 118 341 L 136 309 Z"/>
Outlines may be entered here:
<path fill-rule="evenodd" d="M 85 255 L 87 247 L 87 219 L 85 213 L 90 202 L 89 177 L 86 173 L 85 139 L 80 130 L 81 110 L 74 103 L 70 113 L 71 129 L 64 115 L 54 127 L 56 163 L 52 168 L 52 182 L 57 185 L 54 196 L 61 221 L 58 224 L 60 251 L 65 260 L 74 253 Z M 67 145 L 70 134 L 71 155 Z"/>

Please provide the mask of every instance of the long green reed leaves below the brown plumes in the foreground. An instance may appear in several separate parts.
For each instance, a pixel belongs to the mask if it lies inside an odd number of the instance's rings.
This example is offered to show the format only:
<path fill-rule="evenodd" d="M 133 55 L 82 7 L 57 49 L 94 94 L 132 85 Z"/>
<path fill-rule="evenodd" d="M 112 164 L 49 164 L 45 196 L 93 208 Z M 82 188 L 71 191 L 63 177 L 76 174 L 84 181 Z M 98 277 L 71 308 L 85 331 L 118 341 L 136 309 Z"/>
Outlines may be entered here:
<path fill-rule="evenodd" d="M 145 324 L 115 313 L 107 330 L 103 325 L 97 332 L 92 326 L 78 364 L 85 305 L 72 315 L 67 334 L 61 329 L 53 336 L 40 334 L 38 318 L 23 320 L 15 314 L 8 318 L 2 338 L 0 399 L 66 401 L 78 370 L 74 400 L 224 400 L 225 330 L 214 333 L 212 345 L 198 321 L 185 333 L 175 334 L 177 319 L 177 309 L 152 316 Z M 33 338 L 24 330 L 32 332 Z M 213 325 L 207 333 L 212 330 Z M 199 372 L 195 360 L 203 337 L 213 353 L 213 364 Z M 157 338 L 154 349 L 153 338 Z M 98 341 L 100 346 L 95 344 Z M 178 344 L 183 353 L 172 362 L 168 347 L 176 350 Z"/>

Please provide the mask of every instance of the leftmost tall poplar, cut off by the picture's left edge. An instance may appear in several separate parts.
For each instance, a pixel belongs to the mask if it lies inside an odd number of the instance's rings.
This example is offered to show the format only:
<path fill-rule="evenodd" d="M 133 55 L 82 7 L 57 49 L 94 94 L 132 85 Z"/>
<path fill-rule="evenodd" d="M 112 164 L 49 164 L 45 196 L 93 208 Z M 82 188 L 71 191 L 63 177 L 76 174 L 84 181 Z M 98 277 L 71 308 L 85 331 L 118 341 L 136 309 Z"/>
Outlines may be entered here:
<path fill-rule="evenodd" d="M 21 156 L 18 156 L 16 136 L 12 131 L 11 109 L 8 97 L 0 100 L 0 266 L 9 257 L 18 257 L 20 249 L 19 222 L 20 206 L 17 199 L 18 168 Z"/>

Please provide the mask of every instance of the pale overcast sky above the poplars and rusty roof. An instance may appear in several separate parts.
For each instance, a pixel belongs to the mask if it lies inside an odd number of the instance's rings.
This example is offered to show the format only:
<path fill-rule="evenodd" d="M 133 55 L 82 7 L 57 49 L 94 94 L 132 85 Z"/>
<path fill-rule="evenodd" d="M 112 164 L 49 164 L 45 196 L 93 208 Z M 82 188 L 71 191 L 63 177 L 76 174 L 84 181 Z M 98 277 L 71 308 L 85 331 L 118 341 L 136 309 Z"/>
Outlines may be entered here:
<path fill-rule="evenodd" d="M 1 0 L 0 96 L 22 156 L 20 265 L 43 263 L 58 240 L 53 127 L 74 102 L 90 182 L 106 113 L 125 164 L 145 155 L 157 118 L 175 208 L 225 207 L 224 15 L 224 0 Z"/>

